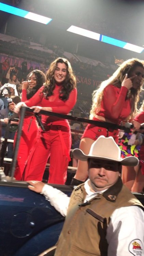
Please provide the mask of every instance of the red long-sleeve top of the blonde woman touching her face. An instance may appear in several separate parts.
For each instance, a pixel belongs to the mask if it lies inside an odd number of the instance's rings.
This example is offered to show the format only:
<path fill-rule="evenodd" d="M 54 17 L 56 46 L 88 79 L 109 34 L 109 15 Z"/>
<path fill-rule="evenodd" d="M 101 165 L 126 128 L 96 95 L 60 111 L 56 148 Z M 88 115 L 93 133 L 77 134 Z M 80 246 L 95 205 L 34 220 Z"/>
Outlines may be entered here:
<path fill-rule="evenodd" d="M 128 89 L 125 86 L 118 88 L 112 84 L 107 85 L 104 89 L 101 109 L 97 115 L 115 124 L 120 124 L 131 112 L 131 101 L 126 99 L 127 92 Z"/>

